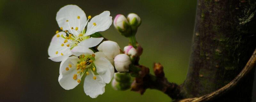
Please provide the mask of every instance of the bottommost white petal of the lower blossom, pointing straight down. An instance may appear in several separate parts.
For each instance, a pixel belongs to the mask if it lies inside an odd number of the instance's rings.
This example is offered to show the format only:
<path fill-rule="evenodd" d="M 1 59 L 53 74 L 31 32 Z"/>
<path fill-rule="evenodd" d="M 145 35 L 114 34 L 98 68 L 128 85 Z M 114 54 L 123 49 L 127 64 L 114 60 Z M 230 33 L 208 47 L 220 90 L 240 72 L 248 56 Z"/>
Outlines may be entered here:
<path fill-rule="evenodd" d="M 89 71 L 84 79 L 84 93 L 91 98 L 97 98 L 105 92 L 106 83 L 103 82 L 103 78 L 99 75 L 95 75 L 96 80 L 93 79 L 92 72 Z"/>

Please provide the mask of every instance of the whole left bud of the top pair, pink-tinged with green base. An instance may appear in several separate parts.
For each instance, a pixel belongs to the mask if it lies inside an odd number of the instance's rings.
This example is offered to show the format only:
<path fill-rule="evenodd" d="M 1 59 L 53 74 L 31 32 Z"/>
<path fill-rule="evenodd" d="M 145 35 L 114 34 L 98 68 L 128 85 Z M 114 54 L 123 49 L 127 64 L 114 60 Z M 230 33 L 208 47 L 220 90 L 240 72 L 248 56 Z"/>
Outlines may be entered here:
<path fill-rule="evenodd" d="M 131 36 L 131 25 L 127 21 L 124 15 L 118 14 L 114 19 L 114 26 L 118 32 L 120 32 L 125 37 Z"/>

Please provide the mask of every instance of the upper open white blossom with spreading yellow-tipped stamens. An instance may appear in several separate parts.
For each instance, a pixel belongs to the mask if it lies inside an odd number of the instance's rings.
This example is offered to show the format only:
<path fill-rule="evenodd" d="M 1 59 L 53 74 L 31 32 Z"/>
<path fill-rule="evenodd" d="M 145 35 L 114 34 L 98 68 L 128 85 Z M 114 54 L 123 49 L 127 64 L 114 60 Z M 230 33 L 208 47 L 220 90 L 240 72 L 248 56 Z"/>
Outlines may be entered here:
<path fill-rule="evenodd" d="M 49 59 L 60 62 L 72 55 L 71 50 L 76 46 L 94 47 L 103 38 L 90 38 L 89 35 L 105 31 L 112 24 L 112 17 L 109 11 L 104 11 L 91 19 L 86 18 L 84 11 L 76 5 L 66 5 L 62 7 L 56 16 L 56 20 L 61 30 L 56 31 L 48 48 Z M 88 23 L 88 25 L 87 25 Z M 85 32 L 85 26 L 87 30 Z"/>

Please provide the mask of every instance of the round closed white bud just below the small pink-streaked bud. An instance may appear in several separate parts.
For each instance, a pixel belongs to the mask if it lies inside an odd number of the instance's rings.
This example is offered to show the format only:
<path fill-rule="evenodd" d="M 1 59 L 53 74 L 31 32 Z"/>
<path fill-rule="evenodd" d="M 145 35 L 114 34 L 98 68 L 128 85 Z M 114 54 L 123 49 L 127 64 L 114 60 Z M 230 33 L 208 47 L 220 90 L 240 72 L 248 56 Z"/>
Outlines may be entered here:
<path fill-rule="evenodd" d="M 119 54 L 114 59 L 115 68 L 118 72 L 128 72 L 129 65 L 132 63 L 128 55 Z"/>

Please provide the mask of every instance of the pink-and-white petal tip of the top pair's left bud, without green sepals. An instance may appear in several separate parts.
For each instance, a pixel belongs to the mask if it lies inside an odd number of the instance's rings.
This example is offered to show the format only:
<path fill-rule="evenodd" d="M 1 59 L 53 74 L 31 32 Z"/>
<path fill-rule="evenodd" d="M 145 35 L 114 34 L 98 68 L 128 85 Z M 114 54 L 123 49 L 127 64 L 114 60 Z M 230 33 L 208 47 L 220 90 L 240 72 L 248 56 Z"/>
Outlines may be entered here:
<path fill-rule="evenodd" d="M 121 14 L 118 14 L 116 15 L 115 17 L 115 20 L 114 20 L 114 26 L 117 28 L 117 27 L 120 27 L 121 29 L 124 29 L 124 23 L 123 22 L 126 22 L 128 23 L 127 19 L 125 18 L 124 15 L 121 15 Z"/>

